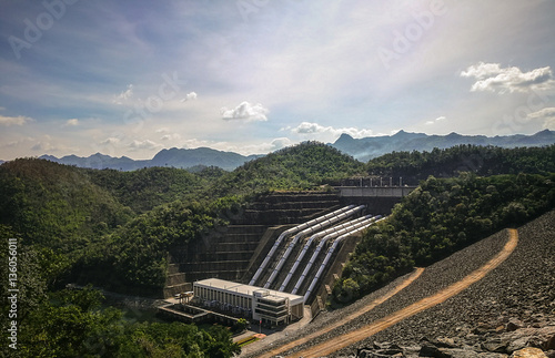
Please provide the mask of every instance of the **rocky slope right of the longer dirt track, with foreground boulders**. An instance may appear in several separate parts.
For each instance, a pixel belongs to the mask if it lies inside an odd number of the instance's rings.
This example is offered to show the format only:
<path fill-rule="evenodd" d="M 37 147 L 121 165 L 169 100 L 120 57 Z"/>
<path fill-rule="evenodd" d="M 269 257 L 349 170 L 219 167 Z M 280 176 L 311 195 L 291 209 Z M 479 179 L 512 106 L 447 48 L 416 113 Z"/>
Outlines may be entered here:
<path fill-rule="evenodd" d="M 555 358 L 555 212 L 518 236 L 511 257 L 481 282 L 337 356 Z"/>

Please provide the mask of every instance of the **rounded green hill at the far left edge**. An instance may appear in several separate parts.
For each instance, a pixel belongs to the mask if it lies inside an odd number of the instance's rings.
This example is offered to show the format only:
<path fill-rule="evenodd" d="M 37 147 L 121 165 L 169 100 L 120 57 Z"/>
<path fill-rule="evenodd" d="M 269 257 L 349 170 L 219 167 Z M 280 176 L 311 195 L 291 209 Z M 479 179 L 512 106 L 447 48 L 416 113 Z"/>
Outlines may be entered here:
<path fill-rule="evenodd" d="M 108 191 L 80 170 L 26 158 L 0 166 L 0 224 L 27 245 L 71 253 L 133 217 Z"/>

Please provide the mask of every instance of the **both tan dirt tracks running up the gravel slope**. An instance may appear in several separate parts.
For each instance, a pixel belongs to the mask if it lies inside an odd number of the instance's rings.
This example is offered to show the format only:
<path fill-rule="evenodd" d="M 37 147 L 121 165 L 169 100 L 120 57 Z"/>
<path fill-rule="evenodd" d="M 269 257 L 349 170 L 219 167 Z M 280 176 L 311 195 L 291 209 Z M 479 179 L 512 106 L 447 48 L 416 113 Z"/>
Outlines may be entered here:
<path fill-rule="evenodd" d="M 457 294 L 460 294 L 462 290 L 466 289 L 468 286 L 472 284 L 481 280 L 487 273 L 493 270 L 495 267 L 500 266 L 507 257 L 513 253 L 513 250 L 516 248 L 516 245 L 518 243 L 518 232 L 516 229 L 508 229 L 508 241 L 503 247 L 503 249 L 495 255 L 492 259 L 490 259 L 484 266 L 477 268 L 476 270 L 472 272 L 470 275 L 461 279 L 460 282 L 447 286 L 446 288 L 440 290 L 435 295 L 425 297 L 401 310 L 395 311 L 394 314 L 386 316 L 382 319 L 376 320 L 375 323 L 372 323 L 371 325 L 367 325 L 365 327 L 355 329 L 349 334 L 344 334 L 342 336 L 335 337 L 333 339 L 329 339 L 324 342 L 321 342 L 319 345 L 312 346 L 310 348 L 306 348 L 304 350 L 294 352 L 293 355 L 290 355 L 287 357 L 325 357 L 327 355 L 331 355 L 340 349 L 343 349 L 345 347 L 349 347 L 357 341 L 364 340 L 369 338 L 372 335 L 375 335 L 376 333 L 384 330 L 401 320 L 408 318 L 411 316 L 414 316 L 427 308 L 431 308 L 435 305 L 438 305 L 443 301 L 445 301 L 447 298 L 453 297 Z M 294 340 L 292 342 L 289 342 L 286 345 L 283 345 L 281 347 L 278 347 L 273 349 L 272 351 L 269 351 L 261 357 L 274 357 L 274 356 L 280 356 L 281 352 L 285 352 L 294 347 L 299 347 L 300 345 L 303 345 L 305 342 L 309 342 L 310 340 L 314 339 L 315 337 L 323 335 L 334 328 L 337 328 L 350 320 L 363 315 L 364 313 L 367 313 L 375 306 L 382 304 L 383 301 L 387 300 L 391 298 L 393 295 L 398 293 L 401 289 L 410 285 L 414 279 L 416 279 L 423 272 L 423 268 L 418 268 L 411 275 L 405 282 L 400 284 L 395 289 L 392 291 L 387 293 L 386 295 L 382 296 L 381 298 L 374 300 L 371 305 L 365 307 L 363 311 L 357 311 L 356 314 L 353 314 L 351 316 L 345 317 L 341 321 L 337 321 L 336 324 L 326 327 L 324 330 L 320 330 L 315 334 L 309 335 L 306 337 L 303 337 L 301 339 Z"/>

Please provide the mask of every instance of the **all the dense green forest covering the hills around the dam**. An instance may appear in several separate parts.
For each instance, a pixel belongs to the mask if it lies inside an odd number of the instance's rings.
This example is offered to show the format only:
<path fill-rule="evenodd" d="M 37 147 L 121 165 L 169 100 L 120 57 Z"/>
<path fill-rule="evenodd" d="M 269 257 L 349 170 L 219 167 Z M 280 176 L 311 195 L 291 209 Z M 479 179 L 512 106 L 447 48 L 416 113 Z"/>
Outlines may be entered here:
<path fill-rule="evenodd" d="M 333 289 L 335 303 L 344 304 L 414 265 L 427 265 L 553 208 L 554 163 L 555 146 L 467 145 L 392 153 L 361 163 L 314 142 L 232 172 L 99 171 L 37 158 L 3 163 L 0 236 L 4 242 L 18 238 L 20 347 L 36 357 L 52 351 L 59 357 L 230 357 L 238 347 L 228 330 L 130 321 L 101 305 L 98 291 L 64 287 L 93 284 L 157 296 L 165 284 L 168 250 L 226 225 L 223 213 L 240 212 L 258 194 L 326 190 L 364 175 L 398 175 L 420 183 L 387 221 L 364 234 Z M 1 259 L 7 260 L 6 250 Z M 0 282 L 6 291 L 7 275 Z M 3 301 L 2 311 L 7 309 Z"/>

